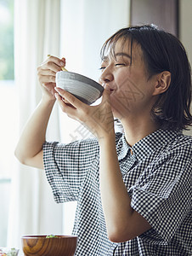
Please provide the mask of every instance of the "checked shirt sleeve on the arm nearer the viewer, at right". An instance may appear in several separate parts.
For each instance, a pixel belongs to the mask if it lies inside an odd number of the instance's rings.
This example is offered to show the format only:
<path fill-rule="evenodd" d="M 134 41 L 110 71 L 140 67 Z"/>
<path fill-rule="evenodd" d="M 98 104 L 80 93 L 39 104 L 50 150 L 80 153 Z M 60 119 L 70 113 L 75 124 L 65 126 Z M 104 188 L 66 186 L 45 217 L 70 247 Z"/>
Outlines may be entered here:
<path fill-rule="evenodd" d="M 164 241 L 175 235 L 191 208 L 191 143 L 162 154 L 128 190 L 131 206 Z"/>

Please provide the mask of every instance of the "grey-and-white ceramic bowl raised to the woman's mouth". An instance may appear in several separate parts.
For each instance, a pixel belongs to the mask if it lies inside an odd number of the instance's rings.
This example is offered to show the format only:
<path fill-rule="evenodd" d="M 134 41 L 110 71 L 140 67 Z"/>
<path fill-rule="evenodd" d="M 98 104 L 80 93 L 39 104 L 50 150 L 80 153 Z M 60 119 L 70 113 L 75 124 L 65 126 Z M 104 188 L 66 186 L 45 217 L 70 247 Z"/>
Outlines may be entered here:
<path fill-rule="evenodd" d="M 80 101 L 91 105 L 102 96 L 104 88 L 93 79 L 79 73 L 59 71 L 56 73 L 56 85 L 69 91 Z"/>

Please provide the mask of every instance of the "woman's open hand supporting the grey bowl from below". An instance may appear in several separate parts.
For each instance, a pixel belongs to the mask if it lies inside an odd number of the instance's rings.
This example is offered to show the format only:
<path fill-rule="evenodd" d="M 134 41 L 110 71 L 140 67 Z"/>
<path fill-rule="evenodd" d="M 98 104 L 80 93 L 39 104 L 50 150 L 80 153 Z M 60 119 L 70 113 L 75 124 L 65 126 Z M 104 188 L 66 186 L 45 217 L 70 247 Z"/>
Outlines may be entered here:
<path fill-rule="evenodd" d="M 58 92 L 55 96 L 62 111 L 86 126 L 99 140 L 114 134 L 114 118 L 110 108 L 110 90 L 104 90 L 102 102 L 98 106 L 88 106 L 69 92 L 58 87 L 55 90 Z M 65 103 L 65 101 L 70 104 Z"/>

